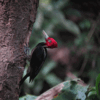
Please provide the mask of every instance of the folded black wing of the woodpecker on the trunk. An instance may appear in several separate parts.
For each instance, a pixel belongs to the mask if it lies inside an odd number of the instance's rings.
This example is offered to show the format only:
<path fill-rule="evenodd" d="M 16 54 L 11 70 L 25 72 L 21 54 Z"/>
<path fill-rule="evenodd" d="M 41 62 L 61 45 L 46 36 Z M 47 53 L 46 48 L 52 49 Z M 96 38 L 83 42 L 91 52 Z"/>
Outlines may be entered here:
<path fill-rule="evenodd" d="M 45 48 L 39 46 L 36 47 L 31 56 L 30 61 L 30 80 L 33 80 L 36 75 L 39 73 L 45 59 L 47 51 Z"/>

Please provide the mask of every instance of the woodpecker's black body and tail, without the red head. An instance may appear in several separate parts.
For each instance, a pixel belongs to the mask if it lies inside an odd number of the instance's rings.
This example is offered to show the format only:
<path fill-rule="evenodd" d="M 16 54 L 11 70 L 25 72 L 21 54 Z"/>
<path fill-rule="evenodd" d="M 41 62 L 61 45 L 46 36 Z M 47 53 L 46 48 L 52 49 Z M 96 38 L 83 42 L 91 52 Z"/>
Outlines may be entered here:
<path fill-rule="evenodd" d="M 47 57 L 47 49 L 44 42 L 39 43 L 34 51 L 32 51 L 31 59 L 30 59 L 30 67 L 29 72 L 22 78 L 20 81 L 20 86 L 25 81 L 27 77 L 30 77 L 30 81 L 37 76 L 39 73 L 45 59 Z"/>

